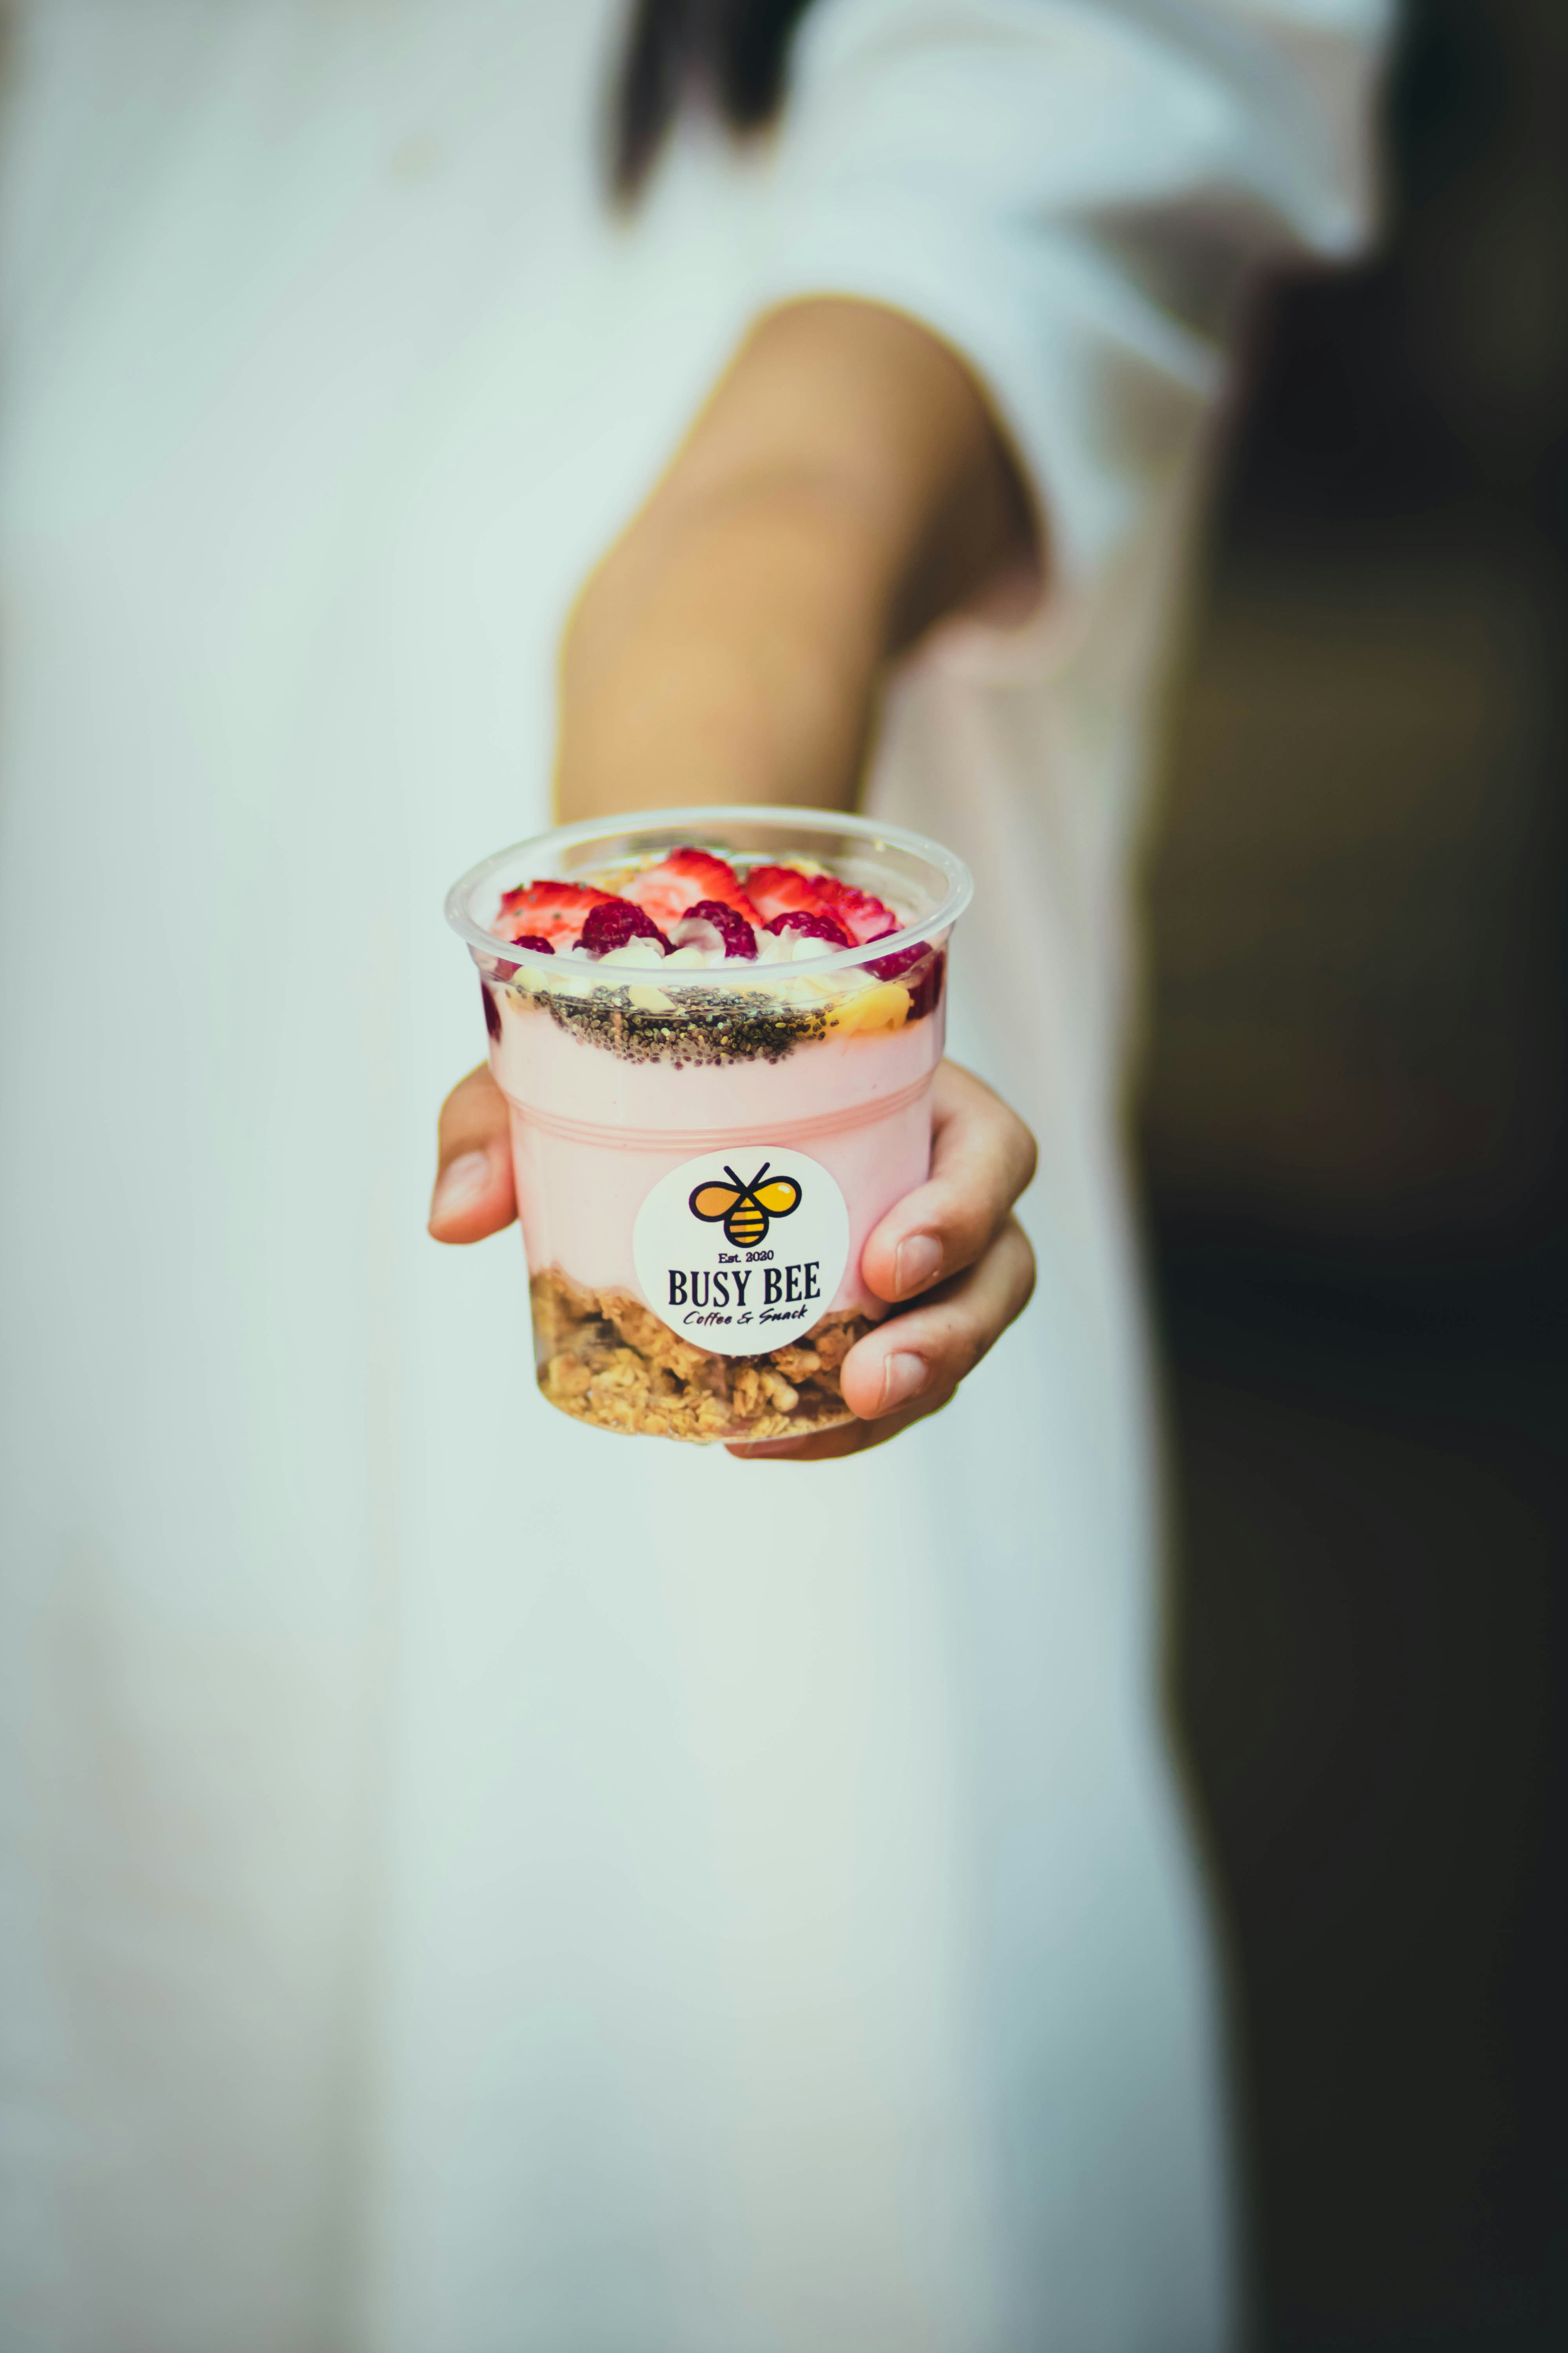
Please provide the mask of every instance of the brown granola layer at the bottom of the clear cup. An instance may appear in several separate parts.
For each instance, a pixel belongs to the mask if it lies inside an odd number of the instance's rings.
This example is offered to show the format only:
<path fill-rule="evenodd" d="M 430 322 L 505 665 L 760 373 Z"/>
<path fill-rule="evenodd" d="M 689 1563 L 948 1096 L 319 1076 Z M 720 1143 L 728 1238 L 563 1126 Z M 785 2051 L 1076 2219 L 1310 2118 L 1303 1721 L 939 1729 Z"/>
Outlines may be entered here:
<path fill-rule="evenodd" d="M 766 1355 L 712 1355 L 630 1292 L 592 1292 L 559 1268 L 534 1275 L 538 1386 L 564 1414 L 625 1438 L 806 1438 L 853 1421 L 839 1367 L 872 1318 L 823 1315 Z"/>

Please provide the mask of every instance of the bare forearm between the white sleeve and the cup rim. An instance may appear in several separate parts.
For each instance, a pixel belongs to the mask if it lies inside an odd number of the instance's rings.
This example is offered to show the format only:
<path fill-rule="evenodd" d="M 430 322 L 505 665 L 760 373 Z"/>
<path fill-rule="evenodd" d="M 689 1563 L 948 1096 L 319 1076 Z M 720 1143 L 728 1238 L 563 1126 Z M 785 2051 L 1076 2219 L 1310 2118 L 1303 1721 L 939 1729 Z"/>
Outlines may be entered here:
<path fill-rule="evenodd" d="M 571 616 L 562 819 L 849 805 L 886 656 L 1025 555 L 943 344 L 870 304 L 771 313 Z"/>

